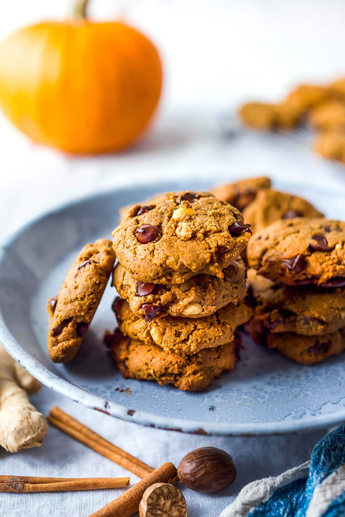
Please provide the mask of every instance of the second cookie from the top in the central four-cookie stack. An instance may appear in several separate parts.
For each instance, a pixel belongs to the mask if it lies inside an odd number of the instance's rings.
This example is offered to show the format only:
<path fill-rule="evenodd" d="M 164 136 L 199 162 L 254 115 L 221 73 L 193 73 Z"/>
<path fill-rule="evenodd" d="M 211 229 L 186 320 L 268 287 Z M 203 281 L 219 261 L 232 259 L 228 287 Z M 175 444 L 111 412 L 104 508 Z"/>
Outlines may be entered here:
<path fill-rule="evenodd" d="M 200 318 L 245 296 L 245 269 L 243 260 L 237 257 L 223 269 L 223 278 L 196 275 L 182 284 L 153 284 L 134 280 L 121 264 L 117 264 L 113 285 L 134 314 L 146 322 L 167 314 Z"/>

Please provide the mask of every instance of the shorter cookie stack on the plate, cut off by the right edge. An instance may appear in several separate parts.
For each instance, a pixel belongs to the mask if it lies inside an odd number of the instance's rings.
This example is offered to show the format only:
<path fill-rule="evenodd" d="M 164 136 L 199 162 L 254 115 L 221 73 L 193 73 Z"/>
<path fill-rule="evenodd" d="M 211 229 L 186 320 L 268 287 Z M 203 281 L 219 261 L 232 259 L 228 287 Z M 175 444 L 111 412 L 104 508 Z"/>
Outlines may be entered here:
<path fill-rule="evenodd" d="M 278 220 L 247 247 L 252 338 L 302 364 L 345 349 L 345 223 Z"/>

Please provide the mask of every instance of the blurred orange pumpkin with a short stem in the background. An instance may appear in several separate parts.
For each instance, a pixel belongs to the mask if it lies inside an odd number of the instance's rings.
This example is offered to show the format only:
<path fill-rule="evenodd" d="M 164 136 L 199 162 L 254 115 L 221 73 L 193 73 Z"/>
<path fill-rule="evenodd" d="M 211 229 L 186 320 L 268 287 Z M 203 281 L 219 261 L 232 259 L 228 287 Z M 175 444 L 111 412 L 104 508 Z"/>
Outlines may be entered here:
<path fill-rule="evenodd" d="M 36 142 L 69 153 L 128 146 L 161 93 L 153 43 L 124 23 L 79 17 L 28 26 L 0 45 L 0 104 Z"/>

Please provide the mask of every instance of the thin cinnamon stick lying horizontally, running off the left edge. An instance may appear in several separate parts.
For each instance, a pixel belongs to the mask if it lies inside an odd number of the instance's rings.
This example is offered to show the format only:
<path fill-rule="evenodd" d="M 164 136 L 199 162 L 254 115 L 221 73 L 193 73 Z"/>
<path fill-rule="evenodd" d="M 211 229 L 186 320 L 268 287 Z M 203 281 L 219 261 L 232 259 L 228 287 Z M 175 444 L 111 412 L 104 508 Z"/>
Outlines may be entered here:
<path fill-rule="evenodd" d="M 3 481 L 8 478 L 8 481 Z M 39 480 L 39 481 L 38 481 Z M 52 481 L 54 480 L 54 481 Z M 62 492 L 121 488 L 129 485 L 129 478 L 32 478 L 0 476 L 0 492 Z"/>

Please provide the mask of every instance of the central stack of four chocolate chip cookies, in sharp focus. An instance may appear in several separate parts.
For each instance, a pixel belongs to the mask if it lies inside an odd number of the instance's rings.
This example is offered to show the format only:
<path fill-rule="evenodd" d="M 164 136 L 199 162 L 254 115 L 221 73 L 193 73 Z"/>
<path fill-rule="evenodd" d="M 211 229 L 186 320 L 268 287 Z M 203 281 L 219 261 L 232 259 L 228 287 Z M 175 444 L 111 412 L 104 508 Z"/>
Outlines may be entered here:
<path fill-rule="evenodd" d="M 107 341 L 125 377 L 197 391 L 236 362 L 252 310 L 239 254 L 250 226 L 205 192 L 156 196 L 113 232 L 118 329 Z"/>

